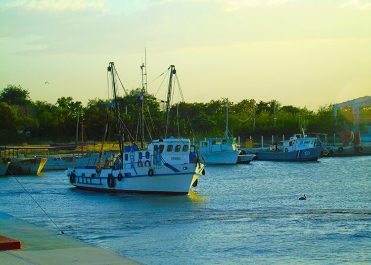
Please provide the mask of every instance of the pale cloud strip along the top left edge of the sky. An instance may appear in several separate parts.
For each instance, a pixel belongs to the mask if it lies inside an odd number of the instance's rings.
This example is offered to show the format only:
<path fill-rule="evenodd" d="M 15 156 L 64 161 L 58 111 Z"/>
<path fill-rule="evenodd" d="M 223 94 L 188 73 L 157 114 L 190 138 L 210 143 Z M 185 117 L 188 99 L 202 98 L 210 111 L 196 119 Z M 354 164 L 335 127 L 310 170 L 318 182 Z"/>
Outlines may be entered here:
<path fill-rule="evenodd" d="M 1 3 L 0 7 L 24 7 L 30 10 L 84 10 L 88 8 L 103 9 L 104 2 L 101 0 L 16 0 L 12 2 Z"/>

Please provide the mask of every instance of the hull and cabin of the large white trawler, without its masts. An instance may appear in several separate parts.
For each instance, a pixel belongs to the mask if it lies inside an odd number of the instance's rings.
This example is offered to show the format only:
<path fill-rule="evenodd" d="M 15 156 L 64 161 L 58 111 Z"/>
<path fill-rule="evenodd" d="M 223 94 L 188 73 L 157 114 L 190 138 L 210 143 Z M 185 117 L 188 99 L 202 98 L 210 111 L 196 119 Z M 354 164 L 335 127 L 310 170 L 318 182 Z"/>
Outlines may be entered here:
<path fill-rule="evenodd" d="M 159 139 L 144 150 L 126 146 L 123 163 L 108 168 L 76 167 L 68 169 L 72 185 L 108 192 L 187 194 L 205 174 L 204 165 L 190 163 L 189 139 Z M 131 148 L 130 148 L 131 147 Z"/>

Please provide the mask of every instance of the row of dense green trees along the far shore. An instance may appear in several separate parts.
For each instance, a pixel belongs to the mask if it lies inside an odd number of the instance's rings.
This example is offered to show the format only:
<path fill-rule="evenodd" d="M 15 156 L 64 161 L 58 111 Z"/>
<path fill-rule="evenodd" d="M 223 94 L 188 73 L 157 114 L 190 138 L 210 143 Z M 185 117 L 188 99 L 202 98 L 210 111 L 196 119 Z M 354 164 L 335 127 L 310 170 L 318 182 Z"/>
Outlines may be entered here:
<path fill-rule="evenodd" d="M 132 90 L 119 99 L 121 118 L 131 134 L 140 140 L 139 100 Z M 90 99 L 86 106 L 72 97 L 60 97 L 56 103 L 30 99 L 29 91 L 21 86 L 7 85 L 0 92 L 0 144 L 69 143 L 76 141 L 100 141 L 104 136 L 108 116 L 108 141 L 116 140 L 114 114 L 107 108 L 110 100 Z M 145 139 L 163 136 L 164 103 L 153 95 L 144 101 Z M 361 115 L 371 117 L 371 109 L 364 108 Z M 78 123 L 77 123 L 78 121 Z M 362 126 L 369 126 L 363 122 Z M 229 130 L 241 139 L 250 135 L 287 135 L 307 132 L 332 135 L 341 130 L 350 130 L 354 124 L 350 108 L 338 110 L 336 120 L 332 105 L 319 107 L 317 111 L 291 105 L 282 106 L 278 101 L 255 102 L 243 99 L 229 102 Z M 82 130 L 83 128 L 84 130 Z M 170 109 L 168 136 L 196 138 L 223 136 L 226 128 L 226 99 L 207 103 L 173 104 Z"/>

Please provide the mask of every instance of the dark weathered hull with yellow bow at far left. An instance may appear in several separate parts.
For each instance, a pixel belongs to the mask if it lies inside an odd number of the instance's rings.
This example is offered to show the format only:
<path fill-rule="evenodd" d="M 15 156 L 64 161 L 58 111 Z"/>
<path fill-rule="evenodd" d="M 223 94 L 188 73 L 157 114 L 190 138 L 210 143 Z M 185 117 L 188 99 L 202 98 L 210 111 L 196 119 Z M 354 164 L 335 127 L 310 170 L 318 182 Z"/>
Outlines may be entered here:
<path fill-rule="evenodd" d="M 12 159 L 6 175 L 37 175 L 42 171 L 46 160 L 40 157 Z"/>

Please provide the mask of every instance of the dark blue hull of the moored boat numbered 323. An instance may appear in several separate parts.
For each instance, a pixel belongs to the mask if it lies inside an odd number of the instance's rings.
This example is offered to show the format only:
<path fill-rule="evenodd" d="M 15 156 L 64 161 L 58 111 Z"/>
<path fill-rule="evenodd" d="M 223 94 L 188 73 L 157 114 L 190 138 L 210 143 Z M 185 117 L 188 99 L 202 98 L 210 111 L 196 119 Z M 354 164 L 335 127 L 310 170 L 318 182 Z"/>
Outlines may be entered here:
<path fill-rule="evenodd" d="M 291 152 L 258 152 L 257 160 L 272 161 L 317 161 L 322 151 L 321 146 Z"/>

